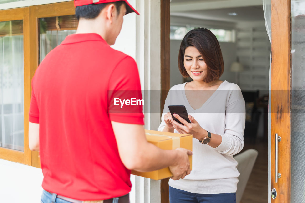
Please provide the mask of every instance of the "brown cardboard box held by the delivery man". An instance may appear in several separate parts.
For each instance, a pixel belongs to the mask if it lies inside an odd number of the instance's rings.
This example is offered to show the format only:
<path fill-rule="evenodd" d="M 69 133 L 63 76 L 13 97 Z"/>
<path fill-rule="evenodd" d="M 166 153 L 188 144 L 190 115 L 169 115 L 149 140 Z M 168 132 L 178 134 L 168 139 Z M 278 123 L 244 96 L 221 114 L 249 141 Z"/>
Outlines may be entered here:
<path fill-rule="evenodd" d="M 167 133 L 167 132 L 159 132 L 155 130 L 145 130 L 147 140 L 156 145 L 161 149 L 176 149 L 176 148 L 186 148 L 192 151 L 193 145 L 193 136 L 187 134 L 178 134 L 178 133 Z M 190 161 L 190 168 L 192 170 L 192 156 L 188 156 Z M 170 172 L 169 167 L 151 171 L 151 172 L 138 172 L 138 171 L 131 171 L 131 174 L 142 176 L 145 178 L 151 178 L 154 180 L 160 180 L 164 178 L 168 178 L 173 176 Z"/>

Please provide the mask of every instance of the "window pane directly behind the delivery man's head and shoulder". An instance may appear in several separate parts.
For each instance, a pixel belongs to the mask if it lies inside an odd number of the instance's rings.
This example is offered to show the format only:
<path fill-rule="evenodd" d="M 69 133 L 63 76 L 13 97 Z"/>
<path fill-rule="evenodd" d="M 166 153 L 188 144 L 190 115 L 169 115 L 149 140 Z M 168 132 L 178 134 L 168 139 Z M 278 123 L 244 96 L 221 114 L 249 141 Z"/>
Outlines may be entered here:
<path fill-rule="evenodd" d="M 69 34 L 76 32 L 78 20 L 75 15 L 39 19 L 39 62 Z"/>

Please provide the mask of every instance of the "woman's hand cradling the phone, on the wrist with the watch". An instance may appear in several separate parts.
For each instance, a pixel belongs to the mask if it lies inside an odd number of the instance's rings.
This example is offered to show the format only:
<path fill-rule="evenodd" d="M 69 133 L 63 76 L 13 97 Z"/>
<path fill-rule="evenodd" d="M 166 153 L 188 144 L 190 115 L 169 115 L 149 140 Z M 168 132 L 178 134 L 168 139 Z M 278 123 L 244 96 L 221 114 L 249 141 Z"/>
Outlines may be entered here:
<path fill-rule="evenodd" d="M 191 134 L 193 137 L 195 137 L 198 140 L 202 140 L 204 137 L 207 136 L 207 131 L 204 130 L 199 123 L 194 119 L 193 116 L 188 115 L 188 119 L 192 123 L 188 123 L 185 119 L 181 118 L 178 114 L 173 114 L 181 123 L 184 125 L 181 125 L 180 123 L 176 122 L 174 119 L 172 119 L 172 125 L 174 128 L 181 134 Z"/>

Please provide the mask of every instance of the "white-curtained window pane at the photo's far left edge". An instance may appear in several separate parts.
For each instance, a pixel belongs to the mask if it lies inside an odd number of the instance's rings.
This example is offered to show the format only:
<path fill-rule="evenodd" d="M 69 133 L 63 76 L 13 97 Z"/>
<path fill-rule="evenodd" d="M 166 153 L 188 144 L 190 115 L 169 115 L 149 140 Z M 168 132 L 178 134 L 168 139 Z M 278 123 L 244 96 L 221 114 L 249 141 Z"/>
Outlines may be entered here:
<path fill-rule="evenodd" d="M 23 151 L 23 20 L 0 22 L 0 147 Z"/>

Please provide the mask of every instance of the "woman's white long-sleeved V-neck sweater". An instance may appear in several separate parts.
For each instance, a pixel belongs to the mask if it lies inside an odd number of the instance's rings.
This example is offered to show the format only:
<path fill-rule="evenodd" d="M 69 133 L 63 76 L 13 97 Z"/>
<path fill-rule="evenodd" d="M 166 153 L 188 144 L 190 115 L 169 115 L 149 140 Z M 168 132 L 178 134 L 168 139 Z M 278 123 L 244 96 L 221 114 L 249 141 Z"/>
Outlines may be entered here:
<path fill-rule="evenodd" d="M 239 172 L 233 155 L 243 148 L 246 119 L 245 101 L 240 88 L 224 81 L 212 96 L 195 110 L 186 98 L 185 84 L 170 88 L 158 130 L 162 131 L 165 126 L 164 115 L 169 112 L 168 105 L 185 105 L 188 114 L 193 116 L 203 129 L 221 135 L 222 142 L 217 148 L 212 148 L 193 138 L 191 173 L 184 179 L 170 179 L 169 185 L 199 194 L 236 192 Z M 176 130 L 174 132 L 178 133 Z"/>

